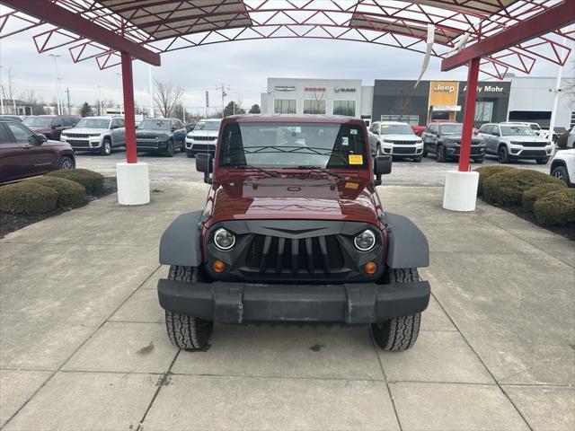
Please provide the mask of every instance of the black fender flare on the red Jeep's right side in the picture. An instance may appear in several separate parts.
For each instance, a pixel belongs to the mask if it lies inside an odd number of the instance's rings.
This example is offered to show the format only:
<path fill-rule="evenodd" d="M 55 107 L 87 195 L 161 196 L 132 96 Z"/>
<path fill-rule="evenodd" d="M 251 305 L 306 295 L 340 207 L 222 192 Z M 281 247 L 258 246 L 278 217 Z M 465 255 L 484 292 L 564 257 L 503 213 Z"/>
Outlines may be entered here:
<path fill-rule="evenodd" d="M 429 244 L 425 235 L 405 216 L 385 213 L 387 259 L 390 268 L 429 267 Z"/>

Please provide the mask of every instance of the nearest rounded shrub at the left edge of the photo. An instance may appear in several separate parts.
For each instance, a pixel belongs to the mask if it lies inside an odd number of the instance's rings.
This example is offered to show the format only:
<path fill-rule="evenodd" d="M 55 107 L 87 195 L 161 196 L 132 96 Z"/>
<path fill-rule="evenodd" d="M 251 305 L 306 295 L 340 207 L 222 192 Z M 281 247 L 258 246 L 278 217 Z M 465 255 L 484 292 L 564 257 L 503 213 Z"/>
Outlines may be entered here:
<path fill-rule="evenodd" d="M 56 208 L 57 191 L 31 181 L 0 187 L 0 212 L 34 216 Z"/>

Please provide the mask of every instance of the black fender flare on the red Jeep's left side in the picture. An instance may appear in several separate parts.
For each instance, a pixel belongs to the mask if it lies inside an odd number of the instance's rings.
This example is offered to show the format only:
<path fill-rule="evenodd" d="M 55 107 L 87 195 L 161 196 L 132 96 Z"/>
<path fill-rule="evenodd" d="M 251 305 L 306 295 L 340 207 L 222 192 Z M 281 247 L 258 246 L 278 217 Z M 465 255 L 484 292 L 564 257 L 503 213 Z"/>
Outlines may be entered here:
<path fill-rule="evenodd" d="M 177 216 L 162 234 L 160 263 L 199 267 L 201 258 L 201 223 L 203 211 Z"/>

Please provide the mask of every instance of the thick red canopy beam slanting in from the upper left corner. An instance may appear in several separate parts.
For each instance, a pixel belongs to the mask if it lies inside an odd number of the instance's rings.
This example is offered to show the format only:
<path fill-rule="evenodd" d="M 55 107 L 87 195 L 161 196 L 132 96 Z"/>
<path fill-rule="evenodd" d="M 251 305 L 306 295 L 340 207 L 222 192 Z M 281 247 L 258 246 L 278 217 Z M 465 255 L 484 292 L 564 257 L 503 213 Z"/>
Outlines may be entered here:
<path fill-rule="evenodd" d="M 127 52 L 130 56 L 150 65 L 161 65 L 159 54 L 127 40 L 113 31 L 106 30 L 102 26 L 82 18 L 78 13 L 73 13 L 49 0 L 0 0 L 0 3 L 44 22 L 50 22 L 67 31 L 72 31 L 78 36 L 99 42 L 120 52 Z"/>

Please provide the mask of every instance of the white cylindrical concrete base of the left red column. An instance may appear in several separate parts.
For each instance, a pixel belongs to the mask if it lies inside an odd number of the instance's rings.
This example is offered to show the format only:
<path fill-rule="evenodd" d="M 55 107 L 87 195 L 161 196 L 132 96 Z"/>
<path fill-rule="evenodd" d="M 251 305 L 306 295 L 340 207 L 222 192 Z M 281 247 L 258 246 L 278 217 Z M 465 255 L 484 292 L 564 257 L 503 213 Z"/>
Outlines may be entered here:
<path fill-rule="evenodd" d="M 150 175 L 147 163 L 116 163 L 119 205 L 145 205 L 150 202 Z"/>

